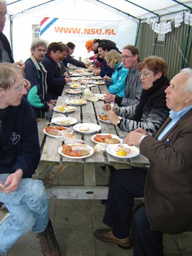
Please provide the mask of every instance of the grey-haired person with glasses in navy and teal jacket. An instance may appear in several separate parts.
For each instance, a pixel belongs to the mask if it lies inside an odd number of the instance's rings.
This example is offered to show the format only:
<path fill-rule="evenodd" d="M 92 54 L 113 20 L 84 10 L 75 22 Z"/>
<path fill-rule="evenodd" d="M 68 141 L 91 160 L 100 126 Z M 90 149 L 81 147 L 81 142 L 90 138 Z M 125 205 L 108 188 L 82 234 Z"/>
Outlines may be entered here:
<path fill-rule="evenodd" d="M 32 42 L 31 55 L 25 61 L 25 78 L 32 85 L 27 94 L 27 99 L 33 107 L 35 116 L 50 118 L 57 100 L 52 99 L 51 95 L 47 93 L 47 70 L 41 63 L 46 51 L 47 43 L 44 40 Z"/>

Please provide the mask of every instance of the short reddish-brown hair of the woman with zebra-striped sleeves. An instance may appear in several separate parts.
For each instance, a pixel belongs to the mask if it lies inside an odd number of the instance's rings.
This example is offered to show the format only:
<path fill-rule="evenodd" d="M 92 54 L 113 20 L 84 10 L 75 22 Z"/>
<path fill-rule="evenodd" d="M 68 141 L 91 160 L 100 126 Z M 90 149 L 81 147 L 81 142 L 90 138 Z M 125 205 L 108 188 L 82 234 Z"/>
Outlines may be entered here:
<path fill-rule="evenodd" d="M 143 68 L 153 71 L 154 75 L 157 75 L 159 72 L 162 73 L 163 77 L 168 75 L 166 62 L 163 58 L 157 56 L 144 58 L 144 60 L 139 64 L 139 70 L 142 70 Z"/>

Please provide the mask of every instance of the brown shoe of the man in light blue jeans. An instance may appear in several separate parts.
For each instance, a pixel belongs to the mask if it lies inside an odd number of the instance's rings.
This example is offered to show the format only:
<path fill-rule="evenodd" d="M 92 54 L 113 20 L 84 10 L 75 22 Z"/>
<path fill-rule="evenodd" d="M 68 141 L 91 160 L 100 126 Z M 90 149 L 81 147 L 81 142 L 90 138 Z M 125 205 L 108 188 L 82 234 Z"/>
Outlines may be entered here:
<path fill-rule="evenodd" d="M 39 233 L 37 237 L 40 238 L 41 250 L 44 256 L 61 256 L 61 252 L 50 220 L 46 230 Z"/>

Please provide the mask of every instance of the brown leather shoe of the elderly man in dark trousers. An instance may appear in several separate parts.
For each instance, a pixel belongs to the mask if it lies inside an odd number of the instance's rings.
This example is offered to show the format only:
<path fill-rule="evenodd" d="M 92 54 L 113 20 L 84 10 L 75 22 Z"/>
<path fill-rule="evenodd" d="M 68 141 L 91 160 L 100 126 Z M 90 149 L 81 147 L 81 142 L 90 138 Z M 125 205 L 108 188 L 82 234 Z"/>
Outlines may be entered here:
<path fill-rule="evenodd" d="M 97 239 L 103 242 L 117 244 L 119 247 L 123 249 L 128 249 L 132 245 L 130 236 L 125 239 L 118 239 L 115 236 L 113 236 L 112 230 L 96 230 L 94 235 Z"/>

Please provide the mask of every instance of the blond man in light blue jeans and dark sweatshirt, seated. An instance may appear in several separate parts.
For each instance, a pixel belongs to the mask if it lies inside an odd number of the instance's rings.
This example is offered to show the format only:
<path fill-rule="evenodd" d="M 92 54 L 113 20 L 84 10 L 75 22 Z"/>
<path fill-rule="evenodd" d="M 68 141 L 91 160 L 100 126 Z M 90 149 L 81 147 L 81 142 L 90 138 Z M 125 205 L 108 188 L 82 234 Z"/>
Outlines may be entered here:
<path fill-rule="evenodd" d="M 8 253 L 21 236 L 33 230 L 45 256 L 61 256 L 48 218 L 44 184 L 31 179 L 40 147 L 35 114 L 23 97 L 26 93 L 23 71 L 0 63 L 0 201 L 10 212 L 0 225 L 0 254 Z"/>

